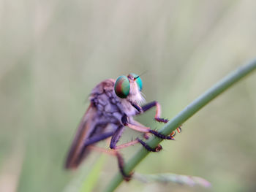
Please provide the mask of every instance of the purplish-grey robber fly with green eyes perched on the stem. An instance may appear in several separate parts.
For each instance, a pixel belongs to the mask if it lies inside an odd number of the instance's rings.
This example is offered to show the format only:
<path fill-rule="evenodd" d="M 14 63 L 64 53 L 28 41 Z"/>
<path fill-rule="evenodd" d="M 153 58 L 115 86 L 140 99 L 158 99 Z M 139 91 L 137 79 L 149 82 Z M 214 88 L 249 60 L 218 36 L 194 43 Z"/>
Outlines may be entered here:
<path fill-rule="evenodd" d="M 143 107 L 140 106 L 145 101 L 141 93 L 142 87 L 143 83 L 140 76 L 130 73 L 127 76 L 122 75 L 116 80 L 104 80 L 91 91 L 90 105 L 80 121 L 75 139 L 69 149 L 65 164 L 66 169 L 77 168 L 91 150 L 99 150 L 115 155 L 121 174 L 125 180 L 129 180 L 132 174 L 125 174 L 124 159 L 118 150 L 136 143 L 140 143 L 146 150 L 152 152 L 157 152 L 162 147 L 158 145 L 156 148 L 151 148 L 146 145 L 143 139 L 139 138 L 123 145 L 117 145 L 124 128 L 128 127 L 143 132 L 145 139 L 148 139 L 148 134 L 154 134 L 161 139 L 173 139 L 174 132 L 165 136 L 133 119 L 133 116 L 156 107 L 154 120 L 162 123 L 168 121 L 160 118 L 160 105 L 157 101 L 152 101 Z M 180 132 L 181 128 L 177 128 L 177 131 Z M 111 138 L 110 150 L 95 146 L 97 142 L 108 138 Z"/>

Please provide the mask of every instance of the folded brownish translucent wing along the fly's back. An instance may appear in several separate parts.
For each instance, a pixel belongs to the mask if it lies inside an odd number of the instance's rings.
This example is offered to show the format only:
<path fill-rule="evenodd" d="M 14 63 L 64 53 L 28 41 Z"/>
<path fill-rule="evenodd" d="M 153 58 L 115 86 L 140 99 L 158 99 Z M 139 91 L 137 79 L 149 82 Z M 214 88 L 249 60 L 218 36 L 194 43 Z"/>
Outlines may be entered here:
<path fill-rule="evenodd" d="M 89 153 L 89 149 L 83 150 L 83 143 L 89 137 L 89 133 L 93 131 L 94 126 L 94 118 L 96 116 L 96 109 L 89 106 L 88 110 L 86 110 L 85 115 L 78 126 L 78 131 L 75 134 L 75 139 L 72 142 L 72 145 L 69 149 L 69 153 L 67 155 L 67 160 L 65 167 L 66 169 L 75 169 L 78 167 L 83 158 L 86 157 Z M 83 151 L 83 154 L 81 154 Z"/>

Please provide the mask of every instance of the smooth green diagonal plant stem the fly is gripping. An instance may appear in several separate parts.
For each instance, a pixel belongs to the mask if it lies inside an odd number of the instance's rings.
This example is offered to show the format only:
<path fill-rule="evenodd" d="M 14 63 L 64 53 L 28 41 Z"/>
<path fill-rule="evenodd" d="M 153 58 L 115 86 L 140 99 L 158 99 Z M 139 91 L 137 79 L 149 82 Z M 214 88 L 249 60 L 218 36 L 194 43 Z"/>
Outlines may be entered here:
<path fill-rule="evenodd" d="M 187 107 L 185 107 L 184 110 L 182 110 L 176 117 L 174 117 L 172 120 L 170 120 L 168 123 L 163 126 L 159 130 L 160 133 L 168 135 L 172 131 L 175 131 L 178 126 L 180 126 L 182 123 L 184 123 L 187 119 L 192 117 L 198 110 L 200 110 L 202 107 L 204 107 L 208 102 L 210 102 L 212 99 L 219 96 L 220 93 L 223 91 L 226 91 L 227 88 L 230 88 L 231 85 L 235 84 L 241 78 L 245 77 L 247 74 L 252 72 L 256 69 L 256 59 L 249 62 L 249 64 L 246 64 L 244 66 L 239 67 L 235 71 L 228 74 L 226 77 L 224 77 L 222 80 L 217 82 L 215 85 L 213 85 L 211 88 L 208 89 L 205 93 L 203 93 L 201 96 L 199 96 L 195 101 L 192 101 L 191 104 L 189 104 Z M 148 140 L 147 145 L 151 147 L 157 147 L 159 142 L 161 142 L 162 139 L 159 139 L 157 137 L 152 137 Z M 140 161 L 143 160 L 143 158 L 148 155 L 148 150 L 145 150 L 144 147 L 141 147 L 140 150 L 138 150 L 135 155 L 124 166 L 124 171 L 126 173 L 132 172 L 132 170 L 137 166 Z M 115 177 L 113 177 L 113 180 L 110 181 L 108 187 L 106 188 L 106 191 L 114 191 L 118 185 L 123 181 L 123 177 L 120 173 L 116 174 Z"/>

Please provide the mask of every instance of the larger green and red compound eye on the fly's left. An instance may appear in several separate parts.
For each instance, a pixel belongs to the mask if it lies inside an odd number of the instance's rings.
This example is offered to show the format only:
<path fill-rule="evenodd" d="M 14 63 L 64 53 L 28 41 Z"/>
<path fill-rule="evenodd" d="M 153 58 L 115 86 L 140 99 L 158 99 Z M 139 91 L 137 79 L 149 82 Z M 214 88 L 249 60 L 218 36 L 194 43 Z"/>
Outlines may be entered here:
<path fill-rule="evenodd" d="M 129 95 L 129 80 L 126 76 L 122 75 L 117 78 L 115 82 L 115 92 L 120 98 L 127 98 Z"/>

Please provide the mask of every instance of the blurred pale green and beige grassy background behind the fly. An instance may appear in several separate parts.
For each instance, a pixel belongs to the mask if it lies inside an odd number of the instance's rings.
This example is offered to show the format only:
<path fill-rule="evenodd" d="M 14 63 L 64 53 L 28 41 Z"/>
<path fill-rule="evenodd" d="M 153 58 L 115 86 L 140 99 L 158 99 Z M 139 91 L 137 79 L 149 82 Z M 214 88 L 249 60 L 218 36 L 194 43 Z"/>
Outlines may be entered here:
<path fill-rule="evenodd" d="M 255 7 L 256 1 L 233 0 L 0 0 L 0 191 L 86 188 L 99 153 L 77 172 L 63 164 L 91 89 L 146 72 L 146 100 L 159 101 L 170 119 L 256 56 Z M 153 116 L 154 110 L 137 119 L 160 128 Z M 117 191 L 256 191 L 255 119 L 253 74 L 184 123 L 175 142 L 162 142 L 164 149 L 135 170 L 203 177 L 211 189 L 132 180 Z M 120 143 L 136 136 L 127 130 Z M 123 150 L 126 160 L 136 148 Z M 118 171 L 116 158 L 104 155 L 101 162 L 94 191 Z"/>

